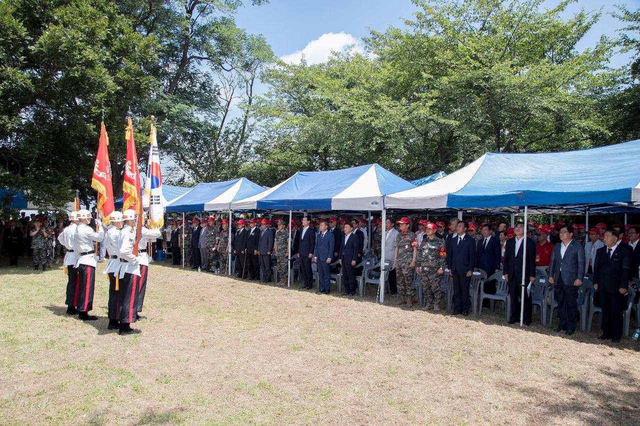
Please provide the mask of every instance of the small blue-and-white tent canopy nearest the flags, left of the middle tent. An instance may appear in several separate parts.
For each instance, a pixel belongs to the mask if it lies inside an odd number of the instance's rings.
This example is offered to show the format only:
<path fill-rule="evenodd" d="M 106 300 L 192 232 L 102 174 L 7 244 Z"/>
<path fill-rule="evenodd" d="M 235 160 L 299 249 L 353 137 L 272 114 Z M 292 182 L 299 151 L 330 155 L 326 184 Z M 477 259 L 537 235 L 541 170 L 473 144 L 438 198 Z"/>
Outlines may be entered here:
<path fill-rule="evenodd" d="M 198 184 L 166 205 L 167 213 L 228 210 L 232 201 L 260 193 L 264 188 L 247 178 Z"/>

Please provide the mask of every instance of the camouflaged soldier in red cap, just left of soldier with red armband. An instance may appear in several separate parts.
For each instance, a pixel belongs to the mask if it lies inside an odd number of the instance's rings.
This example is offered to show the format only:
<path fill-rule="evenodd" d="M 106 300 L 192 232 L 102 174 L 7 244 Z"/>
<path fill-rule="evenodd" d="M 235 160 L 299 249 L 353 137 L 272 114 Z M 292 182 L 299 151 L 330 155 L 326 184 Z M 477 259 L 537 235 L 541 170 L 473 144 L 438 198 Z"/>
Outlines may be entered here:
<path fill-rule="evenodd" d="M 399 221 L 400 233 L 396 237 L 396 253 L 394 253 L 394 267 L 398 287 L 398 304 L 407 303 L 413 307 L 413 268 L 417 256 L 418 241 L 409 226 L 411 221 L 403 217 Z"/>

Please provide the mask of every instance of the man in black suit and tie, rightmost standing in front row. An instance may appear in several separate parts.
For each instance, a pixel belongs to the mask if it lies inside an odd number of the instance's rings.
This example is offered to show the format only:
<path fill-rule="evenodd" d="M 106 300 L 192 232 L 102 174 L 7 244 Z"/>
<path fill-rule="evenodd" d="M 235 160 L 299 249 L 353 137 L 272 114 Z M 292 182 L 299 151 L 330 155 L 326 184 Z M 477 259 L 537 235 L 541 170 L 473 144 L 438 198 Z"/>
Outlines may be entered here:
<path fill-rule="evenodd" d="M 620 233 L 615 229 L 604 233 L 604 247 L 596 251 L 593 266 L 593 288 L 600 295 L 602 306 L 602 336 L 620 342 L 622 337 L 622 311 L 630 276 L 631 253 L 620 247 Z"/>

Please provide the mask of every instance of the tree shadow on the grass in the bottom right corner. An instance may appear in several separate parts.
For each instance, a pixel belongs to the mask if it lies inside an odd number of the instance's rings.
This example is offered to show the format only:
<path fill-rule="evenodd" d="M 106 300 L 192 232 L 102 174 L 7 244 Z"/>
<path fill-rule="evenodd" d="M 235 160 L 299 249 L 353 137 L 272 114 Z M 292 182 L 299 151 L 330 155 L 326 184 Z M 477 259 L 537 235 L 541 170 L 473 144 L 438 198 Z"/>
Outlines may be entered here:
<path fill-rule="evenodd" d="M 514 387 L 524 395 L 536 396 L 545 400 L 544 404 L 536 407 L 535 414 L 530 414 L 527 423 L 558 422 L 559 417 L 568 416 L 584 424 L 637 424 L 640 413 L 640 388 L 636 384 L 636 378 L 628 370 L 604 370 L 603 374 L 611 379 L 606 386 L 598 386 L 586 380 L 577 380 L 568 377 L 561 385 L 570 391 L 561 392 L 565 397 L 557 397 L 550 390 L 536 387 L 527 383 L 518 383 Z M 623 389 L 620 384 L 627 384 Z M 583 398 L 569 397 L 578 393 Z M 585 401 L 595 401 L 587 404 Z M 555 420 L 554 420 L 555 419 Z"/>

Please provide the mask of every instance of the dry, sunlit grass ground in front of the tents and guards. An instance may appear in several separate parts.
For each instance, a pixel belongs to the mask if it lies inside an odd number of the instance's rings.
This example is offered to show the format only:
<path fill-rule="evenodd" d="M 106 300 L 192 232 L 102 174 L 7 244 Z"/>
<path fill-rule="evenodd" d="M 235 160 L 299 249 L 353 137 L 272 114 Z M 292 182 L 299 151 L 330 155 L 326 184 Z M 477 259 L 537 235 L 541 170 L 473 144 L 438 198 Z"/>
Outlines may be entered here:
<path fill-rule="evenodd" d="M 149 272 L 142 333 L 118 336 L 101 273 L 100 319 L 81 322 L 65 313 L 61 267 L 0 269 L 1 424 L 640 423 L 630 338 Z"/>

